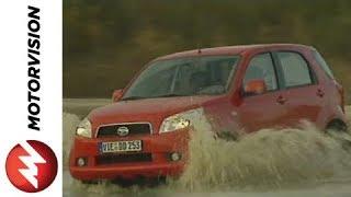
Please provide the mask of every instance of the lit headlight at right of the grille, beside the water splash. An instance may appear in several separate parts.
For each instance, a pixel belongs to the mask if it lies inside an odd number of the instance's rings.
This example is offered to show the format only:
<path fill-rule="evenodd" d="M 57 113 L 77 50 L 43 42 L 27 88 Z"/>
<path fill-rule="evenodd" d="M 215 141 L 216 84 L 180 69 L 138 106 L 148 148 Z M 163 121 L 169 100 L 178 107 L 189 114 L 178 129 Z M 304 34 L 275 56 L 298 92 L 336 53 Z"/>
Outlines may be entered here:
<path fill-rule="evenodd" d="M 162 125 L 160 127 L 160 134 L 186 128 L 193 125 L 194 121 L 201 119 L 202 117 L 204 117 L 203 108 L 196 108 L 174 114 L 172 116 L 167 117 L 162 121 Z"/>

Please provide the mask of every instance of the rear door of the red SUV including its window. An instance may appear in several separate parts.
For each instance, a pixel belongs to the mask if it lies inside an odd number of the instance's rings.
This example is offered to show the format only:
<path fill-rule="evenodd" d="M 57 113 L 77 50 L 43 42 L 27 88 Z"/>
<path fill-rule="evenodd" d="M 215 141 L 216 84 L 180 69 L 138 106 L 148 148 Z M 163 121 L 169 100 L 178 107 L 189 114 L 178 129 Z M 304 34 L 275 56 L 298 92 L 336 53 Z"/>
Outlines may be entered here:
<path fill-rule="evenodd" d="M 288 126 L 297 126 L 303 119 L 315 123 L 325 105 L 325 90 L 307 59 L 297 51 L 276 51 L 280 76 L 285 89 L 285 105 L 288 108 Z"/>

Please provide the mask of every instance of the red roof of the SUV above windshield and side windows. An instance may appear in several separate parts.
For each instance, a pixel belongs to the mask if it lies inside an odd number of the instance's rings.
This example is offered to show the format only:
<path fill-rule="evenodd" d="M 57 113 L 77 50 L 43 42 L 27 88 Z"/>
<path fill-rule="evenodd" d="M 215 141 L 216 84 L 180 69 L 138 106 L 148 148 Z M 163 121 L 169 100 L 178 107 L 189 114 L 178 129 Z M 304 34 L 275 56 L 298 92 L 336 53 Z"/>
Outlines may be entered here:
<path fill-rule="evenodd" d="M 301 44 L 260 44 L 260 45 L 236 45 L 236 46 L 223 46 L 214 48 L 199 48 L 193 50 L 185 50 L 180 53 L 174 53 L 166 56 L 156 58 L 156 60 L 166 60 L 182 57 L 194 57 L 194 56 L 225 56 L 225 55 L 239 55 L 244 51 L 262 49 L 262 48 L 273 48 L 273 47 L 287 47 L 287 48 L 309 48 L 313 47 L 301 45 Z"/>

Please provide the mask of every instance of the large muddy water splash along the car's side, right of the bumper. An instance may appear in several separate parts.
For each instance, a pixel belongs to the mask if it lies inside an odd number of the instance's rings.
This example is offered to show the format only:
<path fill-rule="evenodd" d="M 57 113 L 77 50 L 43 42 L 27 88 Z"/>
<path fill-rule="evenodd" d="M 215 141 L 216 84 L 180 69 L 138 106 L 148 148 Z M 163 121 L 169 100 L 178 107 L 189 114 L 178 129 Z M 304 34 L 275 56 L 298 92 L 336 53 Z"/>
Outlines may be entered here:
<path fill-rule="evenodd" d="M 262 129 L 239 141 L 215 140 L 211 128 L 195 129 L 190 150 L 178 182 L 190 190 L 282 187 L 351 175 L 350 152 L 309 123 L 301 129 Z"/>

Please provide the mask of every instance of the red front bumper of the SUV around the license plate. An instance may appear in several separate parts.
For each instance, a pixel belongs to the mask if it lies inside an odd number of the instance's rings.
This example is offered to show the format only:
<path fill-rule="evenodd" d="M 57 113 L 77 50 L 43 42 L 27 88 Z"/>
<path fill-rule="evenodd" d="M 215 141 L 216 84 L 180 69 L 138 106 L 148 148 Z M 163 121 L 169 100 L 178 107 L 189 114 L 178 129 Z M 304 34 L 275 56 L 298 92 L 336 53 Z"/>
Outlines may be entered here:
<path fill-rule="evenodd" d="M 98 158 L 105 155 L 99 152 L 99 142 L 106 141 L 141 140 L 140 154 L 150 154 L 150 161 L 127 161 L 101 164 Z M 182 129 L 169 134 L 155 134 L 147 136 L 133 136 L 124 138 L 81 138 L 76 137 L 70 152 L 69 170 L 71 175 L 81 181 L 115 179 L 137 177 L 159 177 L 181 175 L 188 161 L 189 130 Z M 170 153 L 180 153 L 181 160 L 171 161 Z M 133 154 L 133 153 L 113 153 Z M 111 154 L 110 154 L 111 155 Z M 87 164 L 78 165 L 78 159 L 82 158 Z"/>

